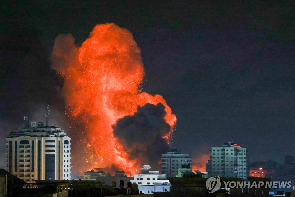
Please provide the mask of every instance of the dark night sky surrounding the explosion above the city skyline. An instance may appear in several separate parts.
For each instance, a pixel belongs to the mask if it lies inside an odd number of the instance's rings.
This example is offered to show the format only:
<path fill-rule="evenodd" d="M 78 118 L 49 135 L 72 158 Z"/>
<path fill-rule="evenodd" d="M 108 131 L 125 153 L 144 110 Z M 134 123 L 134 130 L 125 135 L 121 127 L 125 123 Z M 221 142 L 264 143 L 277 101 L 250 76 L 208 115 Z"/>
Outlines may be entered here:
<path fill-rule="evenodd" d="M 197 158 L 233 140 L 250 161 L 295 156 L 293 1 L 42 0 L 0 9 L 0 153 L 24 115 L 45 121 L 47 104 L 51 124 L 79 136 L 67 130 L 63 79 L 51 69 L 54 39 L 71 33 L 79 45 L 96 24 L 114 22 L 141 49 L 142 91 L 162 95 L 177 117 L 172 148 Z"/>

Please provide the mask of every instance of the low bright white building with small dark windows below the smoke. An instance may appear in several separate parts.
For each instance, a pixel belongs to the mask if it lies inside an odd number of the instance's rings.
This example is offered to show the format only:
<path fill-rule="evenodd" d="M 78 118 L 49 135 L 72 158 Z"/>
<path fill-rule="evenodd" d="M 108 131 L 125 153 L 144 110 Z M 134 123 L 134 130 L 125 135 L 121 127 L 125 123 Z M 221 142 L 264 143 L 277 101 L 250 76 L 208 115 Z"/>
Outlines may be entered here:
<path fill-rule="evenodd" d="M 140 168 L 142 174 L 135 174 L 134 180 L 130 180 L 133 184 L 155 185 L 155 183 L 169 183 L 165 174 L 159 174 L 159 171 L 153 171 L 149 165 Z"/>

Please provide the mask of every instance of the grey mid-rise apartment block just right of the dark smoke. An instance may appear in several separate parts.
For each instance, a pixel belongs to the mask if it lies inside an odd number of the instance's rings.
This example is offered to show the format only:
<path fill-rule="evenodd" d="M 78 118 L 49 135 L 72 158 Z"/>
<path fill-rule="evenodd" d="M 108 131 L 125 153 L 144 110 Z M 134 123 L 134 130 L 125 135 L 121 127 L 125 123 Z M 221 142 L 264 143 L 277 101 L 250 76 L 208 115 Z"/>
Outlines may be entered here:
<path fill-rule="evenodd" d="M 182 154 L 177 149 L 172 149 L 167 154 L 162 154 L 161 164 L 162 174 L 166 174 L 167 177 L 176 177 L 179 168 L 191 168 L 191 156 L 190 154 Z"/>

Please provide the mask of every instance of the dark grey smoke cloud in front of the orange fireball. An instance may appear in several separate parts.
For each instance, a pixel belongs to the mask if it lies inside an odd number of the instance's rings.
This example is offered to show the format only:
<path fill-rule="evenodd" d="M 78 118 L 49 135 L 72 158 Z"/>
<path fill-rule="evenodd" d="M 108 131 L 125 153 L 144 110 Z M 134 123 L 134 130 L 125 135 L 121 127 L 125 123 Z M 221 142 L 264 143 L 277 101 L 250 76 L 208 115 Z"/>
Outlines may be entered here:
<path fill-rule="evenodd" d="M 125 116 L 112 126 L 114 136 L 124 146 L 129 159 L 137 159 L 137 165 L 159 168 L 161 154 L 169 150 L 168 141 L 163 138 L 171 129 L 165 115 L 162 103 L 147 103 L 138 106 L 134 115 Z"/>

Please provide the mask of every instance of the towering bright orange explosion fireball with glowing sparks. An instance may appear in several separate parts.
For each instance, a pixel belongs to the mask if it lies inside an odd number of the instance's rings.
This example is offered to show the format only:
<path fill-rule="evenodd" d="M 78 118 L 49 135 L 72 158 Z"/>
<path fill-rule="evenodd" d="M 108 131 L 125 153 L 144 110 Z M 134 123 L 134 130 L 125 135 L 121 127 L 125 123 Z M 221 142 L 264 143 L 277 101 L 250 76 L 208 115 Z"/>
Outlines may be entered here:
<path fill-rule="evenodd" d="M 67 113 L 73 121 L 84 123 L 88 135 L 88 140 L 82 141 L 84 151 L 73 152 L 73 163 L 81 164 L 74 171 L 115 165 L 135 173 L 143 163 L 130 159 L 112 126 L 146 103 L 165 106 L 164 119 L 171 130 L 160 137 L 168 144 L 176 116 L 162 96 L 140 92 L 144 68 L 140 49 L 128 30 L 113 23 L 96 25 L 81 47 L 74 44 L 72 35 L 59 35 L 52 59 L 53 69 L 65 77 L 61 93 Z"/>

